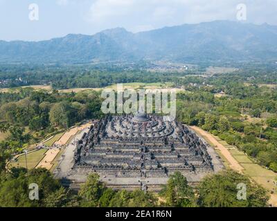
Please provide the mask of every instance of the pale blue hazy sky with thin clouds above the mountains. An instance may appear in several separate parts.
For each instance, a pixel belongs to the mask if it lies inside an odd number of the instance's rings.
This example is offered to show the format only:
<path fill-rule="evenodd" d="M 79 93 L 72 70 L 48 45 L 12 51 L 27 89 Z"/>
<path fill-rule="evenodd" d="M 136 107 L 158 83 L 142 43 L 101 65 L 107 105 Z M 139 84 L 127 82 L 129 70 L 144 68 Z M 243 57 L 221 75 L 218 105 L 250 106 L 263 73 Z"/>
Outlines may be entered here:
<path fill-rule="evenodd" d="M 38 21 L 28 18 L 31 3 L 39 7 Z M 0 0 L 0 39 L 38 41 L 116 27 L 139 32 L 183 23 L 235 21 L 238 3 L 247 6 L 247 22 L 277 25 L 276 0 Z"/>

